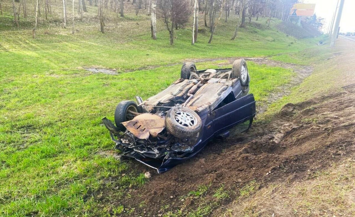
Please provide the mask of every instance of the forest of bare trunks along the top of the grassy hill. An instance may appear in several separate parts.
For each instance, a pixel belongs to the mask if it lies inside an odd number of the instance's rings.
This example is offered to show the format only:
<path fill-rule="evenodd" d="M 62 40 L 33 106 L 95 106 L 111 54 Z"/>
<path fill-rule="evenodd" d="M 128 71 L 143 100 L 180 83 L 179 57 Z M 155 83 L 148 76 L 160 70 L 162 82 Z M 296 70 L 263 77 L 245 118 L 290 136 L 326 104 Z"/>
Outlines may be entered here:
<path fill-rule="evenodd" d="M 234 40 L 239 28 L 244 28 L 252 20 L 258 21 L 259 17 L 267 18 L 268 27 L 272 18 L 293 22 L 295 17 L 290 16 L 290 8 L 295 3 L 297 0 L 0 0 L 0 13 L 8 18 L 3 21 L 4 26 L 31 28 L 35 38 L 37 28 L 46 23 L 71 28 L 75 34 L 79 22 L 96 22 L 99 30 L 105 33 L 106 26 L 119 28 L 125 13 L 134 11 L 136 16 L 144 15 L 150 19 L 153 40 L 156 39 L 158 20 L 158 25 L 168 30 L 170 44 L 174 43 L 175 30 L 186 27 L 192 30 L 191 42 L 194 44 L 201 32 L 199 19 L 208 28 L 208 43 L 211 43 L 218 24 L 229 22 L 230 13 L 234 13 L 239 17 L 237 21 L 232 20 L 235 31 L 231 40 Z M 289 25 L 284 24 L 281 29 Z M 307 37 L 319 35 L 317 32 L 323 26 L 323 19 L 314 15 L 306 18 L 302 26 L 306 26 L 308 32 L 316 32 Z"/>

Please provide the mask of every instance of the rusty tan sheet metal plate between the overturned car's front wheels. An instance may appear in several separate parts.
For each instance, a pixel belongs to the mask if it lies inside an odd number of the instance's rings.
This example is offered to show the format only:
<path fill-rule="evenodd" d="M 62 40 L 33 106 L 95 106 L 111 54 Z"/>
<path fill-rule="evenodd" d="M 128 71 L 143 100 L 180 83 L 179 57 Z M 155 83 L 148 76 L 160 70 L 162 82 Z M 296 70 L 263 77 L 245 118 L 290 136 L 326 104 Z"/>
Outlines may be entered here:
<path fill-rule="evenodd" d="M 157 137 L 165 128 L 165 118 L 151 113 L 137 115 L 131 121 L 122 122 L 133 135 L 140 139 L 148 139 L 149 135 Z"/>

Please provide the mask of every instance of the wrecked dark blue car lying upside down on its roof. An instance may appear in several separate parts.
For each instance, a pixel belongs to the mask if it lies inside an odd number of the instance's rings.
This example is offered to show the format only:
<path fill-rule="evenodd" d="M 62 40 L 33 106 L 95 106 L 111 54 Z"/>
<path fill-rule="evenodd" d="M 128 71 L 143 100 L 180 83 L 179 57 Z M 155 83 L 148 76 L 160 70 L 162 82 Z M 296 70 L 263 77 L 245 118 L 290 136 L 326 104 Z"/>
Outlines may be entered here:
<path fill-rule="evenodd" d="M 208 141 L 243 132 L 255 117 L 255 99 L 249 94 L 244 60 L 232 68 L 197 70 L 186 62 L 181 78 L 143 101 L 122 101 L 115 124 L 102 118 L 116 149 L 123 156 L 157 169 L 158 173 L 195 156 Z"/>

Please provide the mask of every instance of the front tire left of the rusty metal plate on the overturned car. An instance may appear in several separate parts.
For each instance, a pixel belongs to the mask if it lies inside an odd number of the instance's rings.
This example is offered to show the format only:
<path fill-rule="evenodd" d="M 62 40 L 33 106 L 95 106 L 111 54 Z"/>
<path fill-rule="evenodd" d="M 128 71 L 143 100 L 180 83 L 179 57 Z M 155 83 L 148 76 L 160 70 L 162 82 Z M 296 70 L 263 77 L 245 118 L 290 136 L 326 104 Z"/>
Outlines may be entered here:
<path fill-rule="evenodd" d="M 125 100 L 120 102 L 115 110 L 115 123 L 117 128 L 119 128 L 122 132 L 124 132 L 126 128 L 121 123 L 133 119 L 132 116 L 127 114 L 128 110 L 138 112 L 137 104 L 133 101 Z"/>

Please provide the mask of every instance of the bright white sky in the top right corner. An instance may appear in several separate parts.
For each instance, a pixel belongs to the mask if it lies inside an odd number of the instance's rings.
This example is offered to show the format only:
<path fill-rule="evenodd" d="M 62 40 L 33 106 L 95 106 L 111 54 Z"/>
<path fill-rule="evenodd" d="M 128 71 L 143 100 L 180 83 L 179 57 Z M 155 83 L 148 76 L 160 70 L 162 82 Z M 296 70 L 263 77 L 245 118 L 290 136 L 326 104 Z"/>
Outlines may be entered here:
<path fill-rule="evenodd" d="M 324 32 L 328 31 L 337 2 L 338 0 L 303 0 L 303 3 L 316 4 L 315 13 L 317 17 L 326 20 Z M 340 32 L 355 32 L 355 0 L 345 0 L 342 19 L 340 20 Z"/>

